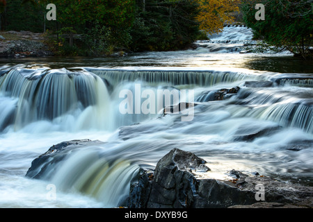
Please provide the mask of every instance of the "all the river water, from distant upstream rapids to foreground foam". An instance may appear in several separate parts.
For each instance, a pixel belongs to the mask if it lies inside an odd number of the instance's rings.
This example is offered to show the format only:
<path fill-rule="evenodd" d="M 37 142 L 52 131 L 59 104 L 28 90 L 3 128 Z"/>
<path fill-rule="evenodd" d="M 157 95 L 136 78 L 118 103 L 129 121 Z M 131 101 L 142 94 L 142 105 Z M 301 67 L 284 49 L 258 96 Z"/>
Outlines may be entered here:
<path fill-rule="evenodd" d="M 312 62 L 239 53 L 251 38 L 227 27 L 195 50 L 2 59 L 0 207 L 117 207 L 139 167 L 153 169 L 172 148 L 204 158 L 214 175 L 236 169 L 312 186 Z M 239 92 L 214 100 L 232 87 Z M 163 116 L 160 98 L 151 100 L 158 90 L 177 92 L 171 105 L 193 92 L 197 105 Z M 121 92 L 134 95 L 133 113 L 121 112 Z M 144 92 L 155 112 L 136 112 Z M 101 142 L 65 153 L 40 180 L 25 176 L 35 157 L 73 139 Z"/>

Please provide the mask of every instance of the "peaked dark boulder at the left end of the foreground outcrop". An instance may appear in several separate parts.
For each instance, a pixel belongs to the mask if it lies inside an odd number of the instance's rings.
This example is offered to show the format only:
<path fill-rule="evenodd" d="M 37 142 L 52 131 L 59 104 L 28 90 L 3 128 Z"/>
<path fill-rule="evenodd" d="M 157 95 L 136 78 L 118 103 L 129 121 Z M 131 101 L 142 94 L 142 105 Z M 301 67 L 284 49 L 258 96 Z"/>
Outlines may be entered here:
<path fill-rule="evenodd" d="M 193 153 L 173 149 L 158 162 L 153 177 L 141 171 L 131 185 L 129 207 L 186 207 L 196 190 L 191 171 L 209 171 L 204 163 Z"/>

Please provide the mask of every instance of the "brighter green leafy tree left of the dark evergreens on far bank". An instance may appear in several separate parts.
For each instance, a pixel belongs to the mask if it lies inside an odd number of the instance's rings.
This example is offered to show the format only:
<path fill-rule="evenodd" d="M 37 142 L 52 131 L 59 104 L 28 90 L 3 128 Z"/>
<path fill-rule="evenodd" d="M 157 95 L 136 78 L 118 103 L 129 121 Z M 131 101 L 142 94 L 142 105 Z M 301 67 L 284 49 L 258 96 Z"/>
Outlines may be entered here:
<path fill-rule="evenodd" d="M 129 42 L 126 39 L 134 20 L 134 2 L 134 0 L 49 1 L 56 5 L 57 21 L 61 31 L 69 36 L 70 47 L 74 44 L 74 33 L 79 33 L 88 35 L 84 36 L 83 40 L 88 40 L 85 43 L 90 49 L 95 48 L 97 44 L 107 46 L 113 44 L 111 47 L 115 47 Z M 107 34 L 111 36 L 104 39 L 102 35 Z M 95 49 L 92 51 L 95 52 Z"/>

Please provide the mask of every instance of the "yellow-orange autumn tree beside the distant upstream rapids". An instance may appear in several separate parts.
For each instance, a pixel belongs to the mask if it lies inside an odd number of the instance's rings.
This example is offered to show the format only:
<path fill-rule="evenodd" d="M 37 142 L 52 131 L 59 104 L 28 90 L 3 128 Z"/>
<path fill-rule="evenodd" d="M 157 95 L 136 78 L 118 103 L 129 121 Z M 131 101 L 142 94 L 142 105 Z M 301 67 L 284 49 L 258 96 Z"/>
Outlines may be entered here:
<path fill-rule="evenodd" d="M 230 12 L 239 11 L 240 0 L 198 0 L 200 6 L 200 29 L 209 34 L 219 33 L 223 30 L 225 22 L 233 22 Z"/>

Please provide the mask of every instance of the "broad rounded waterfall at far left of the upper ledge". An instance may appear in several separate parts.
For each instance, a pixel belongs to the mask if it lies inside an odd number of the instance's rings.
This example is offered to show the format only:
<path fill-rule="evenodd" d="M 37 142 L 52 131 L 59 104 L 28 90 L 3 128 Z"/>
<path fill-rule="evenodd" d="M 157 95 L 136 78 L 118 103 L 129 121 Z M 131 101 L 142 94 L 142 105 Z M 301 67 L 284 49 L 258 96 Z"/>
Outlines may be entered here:
<path fill-rule="evenodd" d="M 10 114 L 10 118 L 0 119 L 1 128 L 12 124 L 19 130 L 47 120 L 67 121 L 72 129 L 109 125 L 109 92 L 95 74 L 67 69 L 12 69 L 1 76 L 0 83 L 0 94 L 8 104 L 4 114 Z"/>

